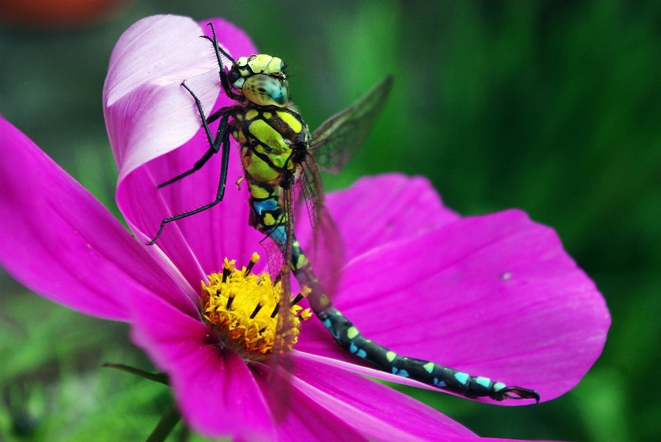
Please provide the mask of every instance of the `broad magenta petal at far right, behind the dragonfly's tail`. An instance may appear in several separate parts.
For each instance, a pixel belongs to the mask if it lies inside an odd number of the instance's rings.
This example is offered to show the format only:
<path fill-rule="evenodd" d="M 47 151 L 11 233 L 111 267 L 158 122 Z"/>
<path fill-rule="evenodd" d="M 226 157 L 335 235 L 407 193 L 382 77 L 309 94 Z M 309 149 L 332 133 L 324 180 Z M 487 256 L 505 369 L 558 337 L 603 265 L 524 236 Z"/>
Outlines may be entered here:
<path fill-rule="evenodd" d="M 346 267 L 336 305 L 395 352 L 533 388 L 543 401 L 576 386 L 610 324 L 603 297 L 556 233 L 516 210 L 363 255 Z M 307 325 L 297 350 L 352 361 Z"/>

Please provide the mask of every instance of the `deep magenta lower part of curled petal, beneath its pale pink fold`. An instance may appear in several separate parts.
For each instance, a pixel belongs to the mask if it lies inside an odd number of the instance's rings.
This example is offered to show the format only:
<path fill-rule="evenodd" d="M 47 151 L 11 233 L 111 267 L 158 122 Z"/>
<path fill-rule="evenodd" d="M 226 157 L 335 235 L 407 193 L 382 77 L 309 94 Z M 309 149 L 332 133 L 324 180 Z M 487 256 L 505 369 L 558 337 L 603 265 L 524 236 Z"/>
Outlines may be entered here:
<path fill-rule="evenodd" d="M 220 176 L 220 156 L 206 167 L 180 182 L 157 189 L 158 183 L 191 167 L 207 149 L 206 141 L 193 138 L 176 151 L 156 158 L 130 173 L 117 190 L 117 203 L 138 238 L 154 238 L 160 222 L 174 213 L 199 207 L 216 198 Z M 253 252 L 260 253 L 264 238 L 249 227 L 248 192 L 233 184 L 242 175 L 238 146 L 232 143 L 228 187 L 220 204 L 207 211 L 167 224 L 156 242 L 191 286 L 199 286 L 207 275 L 222 269 L 224 257 L 238 265 L 249 262 Z M 265 261 L 265 260 L 264 260 Z"/>

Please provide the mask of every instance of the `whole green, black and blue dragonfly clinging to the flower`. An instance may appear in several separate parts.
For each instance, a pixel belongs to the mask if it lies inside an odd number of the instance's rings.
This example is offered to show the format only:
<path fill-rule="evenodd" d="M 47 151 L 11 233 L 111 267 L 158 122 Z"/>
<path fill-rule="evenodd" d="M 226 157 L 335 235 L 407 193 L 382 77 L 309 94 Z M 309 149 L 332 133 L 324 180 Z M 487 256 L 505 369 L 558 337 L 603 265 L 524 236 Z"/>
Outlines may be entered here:
<path fill-rule="evenodd" d="M 398 355 L 361 335 L 330 300 L 343 262 L 342 253 L 337 251 L 341 239 L 324 204 L 319 172 L 337 173 L 364 142 L 390 94 L 392 76 L 386 76 L 353 105 L 328 118 L 311 133 L 289 100 L 286 63 L 268 54 L 242 56 L 235 60 L 220 47 L 216 31 L 211 23 L 209 25 L 213 38 L 202 38 L 213 44 L 220 67 L 222 91 L 236 104 L 222 107 L 206 116 L 196 94 L 185 81 L 182 83 L 196 103 L 209 149 L 191 169 L 158 187 L 172 185 L 195 173 L 220 152 L 220 181 L 216 200 L 165 218 L 154 239 L 147 244 L 156 243 L 169 222 L 211 209 L 222 201 L 232 137 L 240 145 L 244 179 L 250 193 L 249 224 L 264 234 L 262 246 L 267 252 L 269 269 L 274 274 L 274 280 L 282 282 L 282 293 L 286 294 L 280 297 L 273 312 L 280 312 L 277 333 L 285 333 L 293 327 L 288 318 L 291 315 L 286 313 L 291 305 L 306 297 L 312 311 L 337 344 L 379 370 L 472 399 L 535 399 L 539 402 L 540 396 L 535 390 L 506 386 L 488 377 L 473 376 L 432 361 Z M 224 67 L 223 59 L 231 63 L 229 70 Z M 209 125 L 217 120 L 220 120 L 218 129 L 216 135 L 212 136 Z M 300 185 L 301 190 L 295 192 L 295 185 Z M 295 193 L 299 196 L 297 201 L 302 196 L 305 202 L 313 230 L 313 250 L 310 255 L 304 253 L 294 233 Z M 324 262 L 324 265 L 315 269 L 315 262 Z M 319 270 L 323 274 L 318 273 Z M 289 294 L 291 274 L 302 288 L 293 300 Z M 277 355 L 278 351 L 275 348 L 273 354 Z"/>

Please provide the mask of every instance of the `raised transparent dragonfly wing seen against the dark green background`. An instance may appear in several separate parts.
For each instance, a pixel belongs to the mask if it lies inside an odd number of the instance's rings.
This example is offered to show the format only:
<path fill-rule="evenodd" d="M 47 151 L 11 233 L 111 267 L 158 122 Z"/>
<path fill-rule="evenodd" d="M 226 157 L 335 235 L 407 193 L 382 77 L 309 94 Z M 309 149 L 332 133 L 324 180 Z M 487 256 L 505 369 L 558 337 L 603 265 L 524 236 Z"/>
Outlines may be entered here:
<path fill-rule="evenodd" d="M 390 89 L 392 76 L 381 80 L 367 94 L 339 114 L 328 118 L 312 134 L 310 149 L 319 169 L 337 173 L 362 145 L 381 113 Z"/>

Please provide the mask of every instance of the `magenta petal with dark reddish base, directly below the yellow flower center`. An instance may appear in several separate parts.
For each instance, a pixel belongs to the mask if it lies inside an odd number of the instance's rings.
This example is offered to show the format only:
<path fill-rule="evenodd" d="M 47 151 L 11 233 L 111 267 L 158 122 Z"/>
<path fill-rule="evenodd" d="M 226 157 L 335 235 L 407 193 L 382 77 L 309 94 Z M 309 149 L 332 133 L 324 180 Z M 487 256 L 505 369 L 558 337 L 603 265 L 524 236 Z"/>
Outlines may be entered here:
<path fill-rule="evenodd" d="M 209 437 L 273 440 L 274 424 L 251 370 L 211 329 L 156 297 L 134 308 L 132 339 L 169 375 L 185 421 Z"/>

